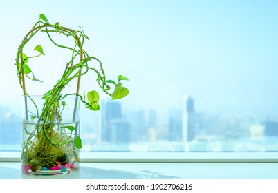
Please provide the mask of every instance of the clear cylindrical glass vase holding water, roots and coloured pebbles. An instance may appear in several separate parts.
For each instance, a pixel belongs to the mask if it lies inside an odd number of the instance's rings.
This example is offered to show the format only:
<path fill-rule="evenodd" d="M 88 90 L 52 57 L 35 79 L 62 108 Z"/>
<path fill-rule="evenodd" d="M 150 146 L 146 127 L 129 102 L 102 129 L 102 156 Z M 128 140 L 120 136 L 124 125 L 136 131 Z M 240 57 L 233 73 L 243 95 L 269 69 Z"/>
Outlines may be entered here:
<path fill-rule="evenodd" d="M 23 96 L 21 169 L 61 175 L 79 169 L 80 101 L 77 96 Z"/>

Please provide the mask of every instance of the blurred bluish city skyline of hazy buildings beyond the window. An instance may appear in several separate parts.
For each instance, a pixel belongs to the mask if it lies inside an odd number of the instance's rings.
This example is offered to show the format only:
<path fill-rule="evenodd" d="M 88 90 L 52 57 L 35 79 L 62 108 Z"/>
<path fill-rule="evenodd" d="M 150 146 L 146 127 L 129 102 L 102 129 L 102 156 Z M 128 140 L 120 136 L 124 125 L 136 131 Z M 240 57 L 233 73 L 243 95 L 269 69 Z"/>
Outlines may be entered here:
<path fill-rule="evenodd" d="M 155 110 L 122 112 L 120 101 L 102 102 L 97 114 L 81 114 L 82 151 L 93 152 L 277 152 L 278 119 L 223 117 L 169 109 L 166 123 Z M 21 117 L 0 107 L 0 150 L 19 151 Z"/>

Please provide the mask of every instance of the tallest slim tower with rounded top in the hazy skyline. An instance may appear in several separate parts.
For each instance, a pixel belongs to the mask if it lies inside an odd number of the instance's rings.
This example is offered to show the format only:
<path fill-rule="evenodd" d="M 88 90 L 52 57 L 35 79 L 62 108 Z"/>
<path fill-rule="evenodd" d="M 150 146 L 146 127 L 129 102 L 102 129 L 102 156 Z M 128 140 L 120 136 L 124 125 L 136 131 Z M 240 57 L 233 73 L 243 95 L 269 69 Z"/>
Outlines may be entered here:
<path fill-rule="evenodd" d="M 183 141 L 192 141 L 196 135 L 194 99 L 185 96 L 183 99 Z"/>

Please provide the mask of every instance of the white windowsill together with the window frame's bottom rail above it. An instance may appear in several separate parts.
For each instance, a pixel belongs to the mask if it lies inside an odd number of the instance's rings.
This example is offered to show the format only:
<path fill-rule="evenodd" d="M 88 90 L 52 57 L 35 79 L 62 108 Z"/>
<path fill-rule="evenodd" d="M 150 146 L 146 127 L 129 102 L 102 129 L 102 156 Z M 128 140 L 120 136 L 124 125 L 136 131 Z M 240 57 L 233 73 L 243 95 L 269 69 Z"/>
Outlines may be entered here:
<path fill-rule="evenodd" d="M 0 179 L 43 178 L 22 174 L 19 157 L 20 152 L 1 152 Z M 81 152 L 80 157 L 80 171 L 54 178 L 278 179 L 277 153 Z"/>

